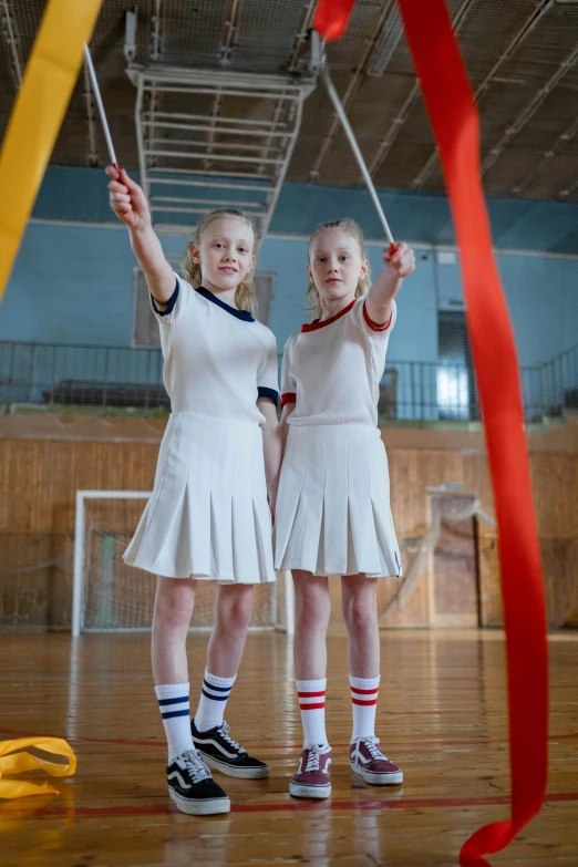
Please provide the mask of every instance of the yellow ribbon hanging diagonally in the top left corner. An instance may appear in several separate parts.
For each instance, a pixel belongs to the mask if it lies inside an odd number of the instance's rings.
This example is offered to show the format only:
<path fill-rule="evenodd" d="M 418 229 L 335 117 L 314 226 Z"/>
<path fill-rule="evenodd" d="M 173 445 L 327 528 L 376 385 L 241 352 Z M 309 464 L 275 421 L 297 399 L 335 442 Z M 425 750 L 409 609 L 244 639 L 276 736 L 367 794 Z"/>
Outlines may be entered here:
<path fill-rule="evenodd" d="M 0 300 L 102 0 L 49 0 L 0 154 Z"/>

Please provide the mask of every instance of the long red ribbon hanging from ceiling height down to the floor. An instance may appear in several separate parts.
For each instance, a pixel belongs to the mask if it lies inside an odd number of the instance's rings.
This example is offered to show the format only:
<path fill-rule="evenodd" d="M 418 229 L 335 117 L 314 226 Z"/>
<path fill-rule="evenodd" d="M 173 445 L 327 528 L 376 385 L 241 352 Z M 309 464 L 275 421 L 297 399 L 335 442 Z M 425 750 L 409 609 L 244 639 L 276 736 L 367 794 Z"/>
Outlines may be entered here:
<path fill-rule="evenodd" d="M 460 247 L 499 537 L 509 702 L 512 818 L 466 840 L 462 867 L 487 865 L 536 816 L 547 777 L 548 660 L 540 551 L 514 337 L 494 260 L 479 169 L 479 121 L 443 0 L 398 0 L 435 133 Z M 316 18 L 342 32 L 351 0 L 321 0 Z M 336 31 L 327 25 L 336 10 Z M 345 19 L 347 25 L 347 19 Z"/>

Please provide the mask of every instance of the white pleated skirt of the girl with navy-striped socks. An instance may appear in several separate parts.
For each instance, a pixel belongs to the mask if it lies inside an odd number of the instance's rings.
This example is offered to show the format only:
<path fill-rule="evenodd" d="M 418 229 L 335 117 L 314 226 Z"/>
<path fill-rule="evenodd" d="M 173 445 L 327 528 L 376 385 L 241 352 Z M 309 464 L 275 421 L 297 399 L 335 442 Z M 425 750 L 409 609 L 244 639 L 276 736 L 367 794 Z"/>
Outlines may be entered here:
<path fill-rule="evenodd" d="M 260 427 L 172 413 L 124 560 L 167 578 L 275 581 Z"/>

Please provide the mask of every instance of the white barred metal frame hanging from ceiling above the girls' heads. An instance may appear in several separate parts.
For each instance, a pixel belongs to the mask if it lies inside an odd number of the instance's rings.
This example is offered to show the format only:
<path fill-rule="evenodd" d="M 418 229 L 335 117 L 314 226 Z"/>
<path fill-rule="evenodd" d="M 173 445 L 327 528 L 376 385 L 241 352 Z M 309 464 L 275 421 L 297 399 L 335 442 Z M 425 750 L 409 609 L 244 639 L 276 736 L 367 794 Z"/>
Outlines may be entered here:
<path fill-rule="evenodd" d="M 188 230 L 210 210 L 237 207 L 264 238 L 314 80 L 158 64 L 127 74 L 155 226 Z"/>

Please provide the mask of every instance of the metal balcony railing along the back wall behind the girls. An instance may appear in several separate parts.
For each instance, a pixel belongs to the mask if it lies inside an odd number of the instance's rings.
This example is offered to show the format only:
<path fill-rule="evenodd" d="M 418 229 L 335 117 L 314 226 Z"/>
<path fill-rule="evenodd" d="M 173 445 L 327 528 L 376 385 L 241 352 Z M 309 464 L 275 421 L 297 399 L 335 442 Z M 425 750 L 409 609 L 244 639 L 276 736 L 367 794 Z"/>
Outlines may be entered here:
<path fill-rule="evenodd" d="M 578 409 L 578 345 L 520 369 L 526 422 Z M 0 341 L 0 403 L 168 409 L 159 349 Z M 380 416 L 479 421 L 473 371 L 423 361 L 388 361 Z"/>

